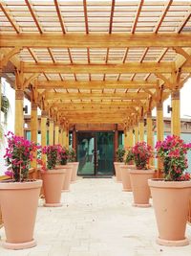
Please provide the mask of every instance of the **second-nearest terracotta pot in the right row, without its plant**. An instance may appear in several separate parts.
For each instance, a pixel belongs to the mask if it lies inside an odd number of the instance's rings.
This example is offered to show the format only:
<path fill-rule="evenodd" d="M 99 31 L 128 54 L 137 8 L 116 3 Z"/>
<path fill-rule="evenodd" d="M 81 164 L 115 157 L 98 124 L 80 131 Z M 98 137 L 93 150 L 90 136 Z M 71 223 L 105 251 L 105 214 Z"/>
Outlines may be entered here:
<path fill-rule="evenodd" d="M 155 170 L 134 170 L 130 169 L 130 179 L 132 184 L 132 191 L 134 195 L 134 206 L 150 207 L 150 189 L 148 186 L 148 179 L 153 178 Z"/>

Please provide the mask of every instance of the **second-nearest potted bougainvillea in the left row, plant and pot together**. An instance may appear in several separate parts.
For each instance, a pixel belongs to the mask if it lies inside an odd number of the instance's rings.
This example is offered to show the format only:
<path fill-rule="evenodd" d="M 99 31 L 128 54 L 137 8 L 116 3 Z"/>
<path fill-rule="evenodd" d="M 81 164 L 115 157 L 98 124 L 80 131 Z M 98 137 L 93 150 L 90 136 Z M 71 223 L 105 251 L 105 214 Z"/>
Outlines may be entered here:
<path fill-rule="evenodd" d="M 42 180 L 45 194 L 45 204 L 48 207 L 62 206 L 60 202 L 61 191 L 66 171 L 55 168 L 58 159 L 59 146 L 46 146 L 42 149 L 42 153 L 47 155 L 47 167 L 42 168 Z"/>

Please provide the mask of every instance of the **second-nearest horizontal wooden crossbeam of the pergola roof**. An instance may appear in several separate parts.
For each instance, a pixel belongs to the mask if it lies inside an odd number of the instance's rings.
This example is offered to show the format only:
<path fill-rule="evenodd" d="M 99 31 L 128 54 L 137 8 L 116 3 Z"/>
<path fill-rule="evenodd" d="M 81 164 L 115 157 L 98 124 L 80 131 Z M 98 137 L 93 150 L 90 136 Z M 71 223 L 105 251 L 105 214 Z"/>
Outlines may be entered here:
<path fill-rule="evenodd" d="M 185 68 L 185 67 L 183 67 Z M 24 73 L 65 73 L 65 74 L 118 74 L 118 73 L 171 73 L 174 62 L 129 62 L 123 64 L 64 64 L 64 63 L 23 63 Z M 185 69 L 184 69 L 185 70 Z M 191 67 L 188 67 L 191 71 Z M 188 71 L 189 72 L 189 71 Z"/>

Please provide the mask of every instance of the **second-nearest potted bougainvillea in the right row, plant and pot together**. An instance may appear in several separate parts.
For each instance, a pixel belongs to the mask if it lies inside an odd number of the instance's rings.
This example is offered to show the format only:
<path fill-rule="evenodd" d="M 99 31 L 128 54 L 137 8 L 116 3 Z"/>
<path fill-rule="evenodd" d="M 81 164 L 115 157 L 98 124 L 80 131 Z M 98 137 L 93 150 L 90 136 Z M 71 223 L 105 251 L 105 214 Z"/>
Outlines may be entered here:
<path fill-rule="evenodd" d="M 150 189 L 148 179 L 153 178 L 155 170 L 148 167 L 149 159 L 153 155 L 152 148 L 145 142 L 138 142 L 132 149 L 136 169 L 130 169 L 130 179 L 134 195 L 134 206 L 150 207 Z"/>

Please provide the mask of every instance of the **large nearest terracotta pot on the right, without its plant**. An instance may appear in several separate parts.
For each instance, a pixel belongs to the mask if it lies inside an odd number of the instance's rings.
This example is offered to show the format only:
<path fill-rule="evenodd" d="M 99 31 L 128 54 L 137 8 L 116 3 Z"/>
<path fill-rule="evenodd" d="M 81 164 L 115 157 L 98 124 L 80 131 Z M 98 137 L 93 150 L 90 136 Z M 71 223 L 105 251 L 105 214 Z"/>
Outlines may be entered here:
<path fill-rule="evenodd" d="M 157 219 L 158 244 L 182 246 L 189 244 L 185 238 L 191 181 L 163 181 L 149 179 Z"/>

